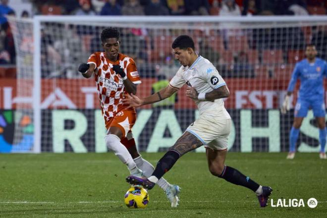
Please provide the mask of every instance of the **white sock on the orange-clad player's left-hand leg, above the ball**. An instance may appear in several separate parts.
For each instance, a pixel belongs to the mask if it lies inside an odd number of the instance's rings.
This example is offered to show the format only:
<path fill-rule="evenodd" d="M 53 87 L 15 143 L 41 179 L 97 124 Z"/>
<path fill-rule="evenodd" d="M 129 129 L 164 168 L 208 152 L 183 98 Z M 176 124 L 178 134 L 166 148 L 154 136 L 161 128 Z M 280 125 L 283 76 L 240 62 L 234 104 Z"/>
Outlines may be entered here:
<path fill-rule="evenodd" d="M 133 161 L 132 156 L 129 154 L 127 148 L 121 144 L 118 136 L 113 134 L 106 135 L 105 142 L 109 150 L 111 150 L 122 163 L 127 165 L 127 168 L 132 175 L 141 173 L 139 168 L 136 166 L 136 163 Z"/>

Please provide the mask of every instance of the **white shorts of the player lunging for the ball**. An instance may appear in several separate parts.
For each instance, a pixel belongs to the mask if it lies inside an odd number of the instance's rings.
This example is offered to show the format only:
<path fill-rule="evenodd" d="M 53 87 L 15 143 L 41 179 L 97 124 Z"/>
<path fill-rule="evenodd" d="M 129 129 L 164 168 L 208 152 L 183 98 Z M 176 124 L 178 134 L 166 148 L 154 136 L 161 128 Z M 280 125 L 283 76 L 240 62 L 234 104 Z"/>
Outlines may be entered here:
<path fill-rule="evenodd" d="M 186 131 L 195 135 L 204 145 L 215 151 L 227 150 L 231 119 L 217 119 L 215 116 L 201 114 Z"/>

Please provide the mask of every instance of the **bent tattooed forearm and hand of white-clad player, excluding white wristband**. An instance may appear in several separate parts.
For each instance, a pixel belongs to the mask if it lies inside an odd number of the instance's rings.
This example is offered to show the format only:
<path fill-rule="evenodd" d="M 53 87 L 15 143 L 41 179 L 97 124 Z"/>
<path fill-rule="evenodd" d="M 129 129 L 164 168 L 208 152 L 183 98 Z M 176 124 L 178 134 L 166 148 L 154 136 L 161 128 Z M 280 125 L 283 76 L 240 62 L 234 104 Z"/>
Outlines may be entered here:
<path fill-rule="evenodd" d="M 187 87 L 186 96 L 197 100 L 199 93 L 193 87 Z M 226 85 L 220 86 L 218 89 L 214 89 L 211 92 L 207 92 L 205 95 L 205 99 L 208 101 L 214 101 L 215 99 L 227 98 L 229 96 L 229 90 Z"/>

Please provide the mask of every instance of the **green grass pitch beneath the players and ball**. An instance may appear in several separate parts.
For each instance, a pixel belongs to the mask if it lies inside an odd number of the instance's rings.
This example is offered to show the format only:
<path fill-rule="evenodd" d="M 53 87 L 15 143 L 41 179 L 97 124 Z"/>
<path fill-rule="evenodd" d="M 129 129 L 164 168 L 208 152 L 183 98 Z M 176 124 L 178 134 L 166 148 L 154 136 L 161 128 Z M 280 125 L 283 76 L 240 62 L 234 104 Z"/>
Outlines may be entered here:
<path fill-rule="evenodd" d="M 143 154 L 154 165 L 163 153 Z M 178 208 L 170 208 L 163 190 L 149 191 L 146 209 L 128 209 L 124 194 L 126 166 L 112 154 L 1 154 L 0 217 L 208 218 L 305 217 L 326 218 L 327 160 L 317 153 L 229 153 L 233 166 L 262 185 L 271 198 L 303 199 L 305 207 L 260 208 L 255 194 L 212 176 L 205 154 L 188 153 L 165 174 L 182 190 Z M 307 200 L 318 206 L 311 209 Z"/>

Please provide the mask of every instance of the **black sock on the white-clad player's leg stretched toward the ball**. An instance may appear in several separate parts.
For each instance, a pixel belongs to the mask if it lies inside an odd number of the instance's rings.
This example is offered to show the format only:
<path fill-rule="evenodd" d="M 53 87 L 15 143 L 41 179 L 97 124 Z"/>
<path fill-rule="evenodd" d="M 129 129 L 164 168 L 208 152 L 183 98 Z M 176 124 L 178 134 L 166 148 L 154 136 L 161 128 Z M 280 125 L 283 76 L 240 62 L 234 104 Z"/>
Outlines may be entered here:
<path fill-rule="evenodd" d="M 173 150 L 168 151 L 163 155 L 162 159 L 160 159 L 160 161 L 157 163 L 156 169 L 152 173 L 152 175 L 160 179 L 161 177 L 163 177 L 163 174 L 166 173 L 176 163 L 176 161 L 179 158 L 180 155 L 176 151 Z"/>

